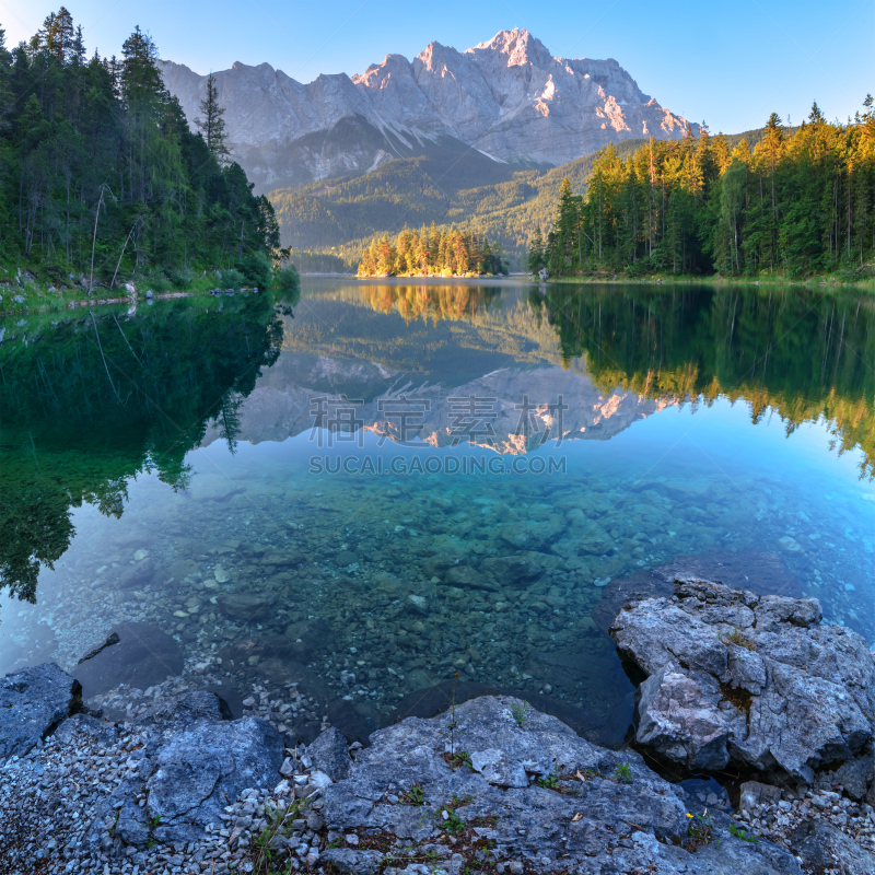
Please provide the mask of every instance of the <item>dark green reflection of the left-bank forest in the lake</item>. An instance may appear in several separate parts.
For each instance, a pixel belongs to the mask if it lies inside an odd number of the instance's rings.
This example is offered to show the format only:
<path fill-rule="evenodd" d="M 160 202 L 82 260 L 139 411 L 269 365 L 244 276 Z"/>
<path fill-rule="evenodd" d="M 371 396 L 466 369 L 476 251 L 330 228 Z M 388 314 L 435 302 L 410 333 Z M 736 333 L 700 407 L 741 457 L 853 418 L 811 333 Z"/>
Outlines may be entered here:
<path fill-rule="evenodd" d="M 140 472 L 185 488 L 185 455 L 210 421 L 234 441 L 235 407 L 277 360 L 282 324 L 268 295 L 201 301 L 7 327 L 0 586 L 10 596 L 34 600 L 40 568 L 74 535 L 72 509 L 121 516 Z"/>

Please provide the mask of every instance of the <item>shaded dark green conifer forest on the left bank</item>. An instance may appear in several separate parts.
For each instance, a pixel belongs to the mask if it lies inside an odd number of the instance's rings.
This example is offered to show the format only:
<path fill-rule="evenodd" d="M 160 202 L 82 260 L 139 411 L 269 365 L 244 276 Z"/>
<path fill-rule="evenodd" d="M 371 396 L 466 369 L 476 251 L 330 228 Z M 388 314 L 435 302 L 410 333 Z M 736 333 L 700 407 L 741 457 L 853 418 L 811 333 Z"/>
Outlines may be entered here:
<path fill-rule="evenodd" d="M 89 57 L 63 7 L 11 50 L 0 30 L 4 270 L 89 290 L 185 284 L 207 269 L 269 278 L 273 208 L 231 161 L 214 91 L 192 133 L 156 59 L 139 27 L 120 57 Z"/>

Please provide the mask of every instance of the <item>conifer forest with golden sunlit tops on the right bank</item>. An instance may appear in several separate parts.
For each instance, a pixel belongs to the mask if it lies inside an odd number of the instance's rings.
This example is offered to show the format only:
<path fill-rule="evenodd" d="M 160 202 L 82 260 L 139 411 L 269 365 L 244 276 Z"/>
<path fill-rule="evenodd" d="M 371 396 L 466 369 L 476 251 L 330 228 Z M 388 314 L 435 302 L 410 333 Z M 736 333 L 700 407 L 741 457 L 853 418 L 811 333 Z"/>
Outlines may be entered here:
<path fill-rule="evenodd" d="M 564 179 L 528 269 L 567 277 L 688 273 L 872 276 L 875 256 L 875 113 L 842 125 L 815 103 L 798 128 L 772 114 L 759 142 L 732 148 L 707 127 L 650 140 L 625 159 L 608 145 L 585 195 Z"/>

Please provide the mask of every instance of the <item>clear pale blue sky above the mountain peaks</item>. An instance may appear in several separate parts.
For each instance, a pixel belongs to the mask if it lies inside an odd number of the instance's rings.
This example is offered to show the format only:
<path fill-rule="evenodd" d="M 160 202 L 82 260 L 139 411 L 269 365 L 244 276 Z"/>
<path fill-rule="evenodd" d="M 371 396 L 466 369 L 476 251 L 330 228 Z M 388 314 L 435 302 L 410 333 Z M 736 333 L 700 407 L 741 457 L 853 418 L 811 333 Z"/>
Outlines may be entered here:
<path fill-rule="evenodd" d="M 711 130 L 793 124 L 816 100 L 845 119 L 875 92 L 875 0 L 68 0 L 90 50 L 118 52 L 133 25 L 198 72 L 267 61 L 301 82 L 357 73 L 433 39 L 462 50 L 526 27 L 557 57 L 616 58 L 642 91 Z M 0 0 L 7 45 L 56 8 Z"/>

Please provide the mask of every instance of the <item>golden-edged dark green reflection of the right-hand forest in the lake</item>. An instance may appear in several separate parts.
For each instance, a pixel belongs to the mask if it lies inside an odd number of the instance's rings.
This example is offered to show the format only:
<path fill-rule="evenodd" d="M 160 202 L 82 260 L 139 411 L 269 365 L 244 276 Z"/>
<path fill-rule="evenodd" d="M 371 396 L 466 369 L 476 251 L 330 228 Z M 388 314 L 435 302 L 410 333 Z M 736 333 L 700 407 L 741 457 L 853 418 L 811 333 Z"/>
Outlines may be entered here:
<path fill-rule="evenodd" d="M 751 422 L 775 412 L 788 435 L 822 418 L 832 447 L 859 447 L 860 477 L 875 477 L 875 331 L 859 296 L 558 283 L 528 303 L 556 330 L 562 363 L 585 358 L 602 390 L 693 408 L 745 400 Z"/>

